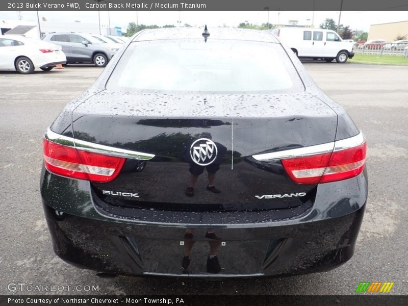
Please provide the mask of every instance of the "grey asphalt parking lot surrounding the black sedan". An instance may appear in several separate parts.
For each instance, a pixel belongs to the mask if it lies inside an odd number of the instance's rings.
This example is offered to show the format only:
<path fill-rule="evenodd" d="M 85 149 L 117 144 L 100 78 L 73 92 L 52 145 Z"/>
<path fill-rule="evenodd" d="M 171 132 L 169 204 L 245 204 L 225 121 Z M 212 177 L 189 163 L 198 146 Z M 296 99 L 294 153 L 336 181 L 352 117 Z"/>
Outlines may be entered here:
<path fill-rule="evenodd" d="M 32 75 L 0 72 L 4 199 L 0 203 L 0 294 L 40 293 L 10 292 L 10 283 L 82 286 L 82 291 L 65 287 L 53 292 L 61 294 L 353 294 L 363 281 L 395 282 L 391 293 L 407 294 L 408 71 L 399 66 L 316 61 L 304 65 L 325 93 L 345 107 L 368 141 L 369 203 L 354 257 L 348 263 L 325 273 L 222 282 L 100 279 L 94 271 L 65 264 L 52 250 L 41 207 L 41 136 L 101 69 L 80 65 Z M 84 286 L 99 286 L 99 290 L 85 291 Z"/>

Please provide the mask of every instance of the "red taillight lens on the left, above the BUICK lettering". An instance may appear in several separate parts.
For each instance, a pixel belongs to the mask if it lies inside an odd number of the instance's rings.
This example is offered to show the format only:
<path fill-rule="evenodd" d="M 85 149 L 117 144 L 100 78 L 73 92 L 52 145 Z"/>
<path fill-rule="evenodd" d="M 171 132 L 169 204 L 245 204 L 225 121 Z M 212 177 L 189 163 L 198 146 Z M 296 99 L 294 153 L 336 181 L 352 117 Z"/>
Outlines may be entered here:
<path fill-rule="evenodd" d="M 110 182 L 126 159 L 77 150 L 43 139 L 44 163 L 48 171 L 74 179 Z"/>

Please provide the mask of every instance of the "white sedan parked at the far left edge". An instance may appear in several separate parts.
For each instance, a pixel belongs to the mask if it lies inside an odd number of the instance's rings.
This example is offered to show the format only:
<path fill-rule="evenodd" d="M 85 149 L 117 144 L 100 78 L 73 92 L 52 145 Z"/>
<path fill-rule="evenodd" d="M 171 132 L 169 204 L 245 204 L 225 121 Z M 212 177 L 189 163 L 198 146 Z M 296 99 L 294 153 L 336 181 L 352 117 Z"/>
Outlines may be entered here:
<path fill-rule="evenodd" d="M 65 62 L 61 46 L 18 35 L 0 36 L 0 70 L 29 74 L 36 68 L 49 71 Z"/>

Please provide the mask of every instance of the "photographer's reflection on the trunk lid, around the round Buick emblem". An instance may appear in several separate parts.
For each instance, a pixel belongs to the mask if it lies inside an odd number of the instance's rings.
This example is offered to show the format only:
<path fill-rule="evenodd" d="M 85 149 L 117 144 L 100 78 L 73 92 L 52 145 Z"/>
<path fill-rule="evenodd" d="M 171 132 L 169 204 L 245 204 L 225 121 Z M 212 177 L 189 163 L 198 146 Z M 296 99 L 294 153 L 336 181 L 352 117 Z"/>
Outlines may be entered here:
<path fill-rule="evenodd" d="M 208 173 L 207 190 L 213 193 L 221 191 L 214 186 L 215 173 L 220 169 L 220 164 L 224 159 L 226 147 L 220 143 L 211 141 L 210 133 L 202 133 L 199 140 L 196 140 L 190 147 L 185 149 L 185 160 L 190 163 L 189 171 L 191 173 L 188 187 L 186 189 L 187 196 L 194 195 L 194 187 L 198 176 L 204 172 L 206 168 Z M 186 154 L 187 149 L 189 154 Z"/>

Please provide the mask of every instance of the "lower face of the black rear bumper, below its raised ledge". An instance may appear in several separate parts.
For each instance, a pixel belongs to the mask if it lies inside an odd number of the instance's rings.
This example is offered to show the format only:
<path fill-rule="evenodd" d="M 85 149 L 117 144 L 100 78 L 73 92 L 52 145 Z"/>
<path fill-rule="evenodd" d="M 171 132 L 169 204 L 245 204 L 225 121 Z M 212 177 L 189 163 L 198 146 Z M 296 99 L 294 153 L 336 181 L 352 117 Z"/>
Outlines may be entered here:
<path fill-rule="evenodd" d="M 295 275 L 345 263 L 353 255 L 365 207 L 307 224 L 213 229 L 220 240 L 207 239 L 207 228 L 190 229 L 193 236 L 186 237 L 184 228 L 58 216 L 49 206 L 44 209 L 54 251 L 75 266 L 124 275 L 233 277 Z M 184 273 L 188 250 L 192 262 Z M 223 271 L 207 266 L 210 250 Z"/>

